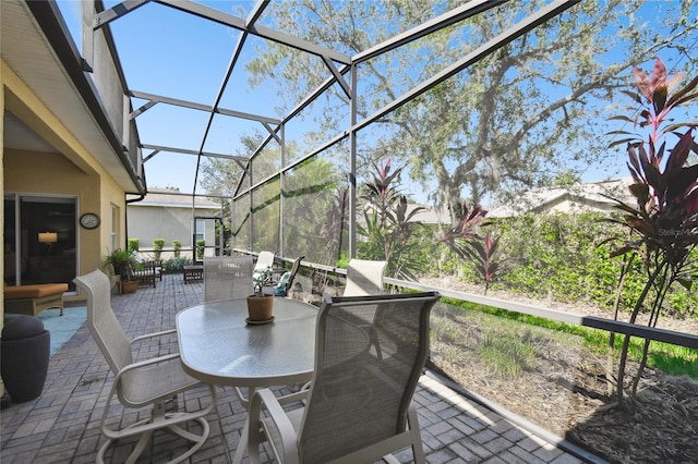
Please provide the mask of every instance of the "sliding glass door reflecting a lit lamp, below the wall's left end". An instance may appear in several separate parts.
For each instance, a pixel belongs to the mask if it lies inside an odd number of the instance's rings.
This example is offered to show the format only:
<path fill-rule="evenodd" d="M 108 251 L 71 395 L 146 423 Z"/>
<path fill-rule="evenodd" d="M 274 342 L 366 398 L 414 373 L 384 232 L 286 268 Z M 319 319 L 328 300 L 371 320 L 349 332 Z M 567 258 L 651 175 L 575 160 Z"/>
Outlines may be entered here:
<path fill-rule="evenodd" d="M 72 196 L 5 194 L 5 284 L 64 282 L 75 290 L 76 204 Z"/>

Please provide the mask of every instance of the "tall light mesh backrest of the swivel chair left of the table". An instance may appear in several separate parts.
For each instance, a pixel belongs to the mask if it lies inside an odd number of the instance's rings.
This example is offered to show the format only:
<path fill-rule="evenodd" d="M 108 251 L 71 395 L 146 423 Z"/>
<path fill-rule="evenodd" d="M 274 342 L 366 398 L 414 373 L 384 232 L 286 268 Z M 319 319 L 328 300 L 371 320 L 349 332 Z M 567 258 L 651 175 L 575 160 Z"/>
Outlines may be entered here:
<path fill-rule="evenodd" d="M 133 363 L 131 343 L 111 308 L 111 282 L 99 269 L 73 279 L 87 293 L 87 328 L 113 374 Z"/>

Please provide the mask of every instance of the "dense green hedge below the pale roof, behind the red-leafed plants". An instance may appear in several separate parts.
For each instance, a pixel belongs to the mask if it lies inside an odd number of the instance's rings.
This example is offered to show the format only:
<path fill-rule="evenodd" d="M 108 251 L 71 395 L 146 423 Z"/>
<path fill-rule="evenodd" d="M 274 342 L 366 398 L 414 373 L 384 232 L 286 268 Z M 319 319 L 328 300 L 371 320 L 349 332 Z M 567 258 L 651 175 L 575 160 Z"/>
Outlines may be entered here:
<path fill-rule="evenodd" d="M 552 213 L 490 220 L 488 228 L 502 233 L 506 251 L 502 278 L 492 289 L 564 303 L 589 302 L 613 307 L 623 259 L 611 258 L 602 239 L 613 234 L 623 236 L 624 231 L 604 218 L 601 213 Z M 430 267 L 438 269 L 440 252 L 430 249 L 428 256 Z M 473 262 L 446 252 L 441 264 L 443 272 L 458 274 L 470 283 L 478 282 Z M 641 262 L 636 260 L 634 266 L 621 294 L 622 309 L 630 309 L 645 283 Z M 676 285 L 667 294 L 664 313 L 697 315 L 698 292 Z"/>

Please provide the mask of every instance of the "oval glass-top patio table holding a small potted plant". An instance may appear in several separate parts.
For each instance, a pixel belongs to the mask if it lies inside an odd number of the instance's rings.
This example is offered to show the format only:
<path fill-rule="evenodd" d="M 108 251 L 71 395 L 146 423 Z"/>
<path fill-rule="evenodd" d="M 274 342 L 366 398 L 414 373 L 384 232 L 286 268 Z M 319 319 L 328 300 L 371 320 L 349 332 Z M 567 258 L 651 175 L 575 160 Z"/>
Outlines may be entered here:
<path fill-rule="evenodd" d="M 192 306 L 177 315 L 184 370 L 203 381 L 232 387 L 270 387 L 311 379 L 317 308 L 276 297 L 274 321 L 245 322 L 245 298 Z"/>

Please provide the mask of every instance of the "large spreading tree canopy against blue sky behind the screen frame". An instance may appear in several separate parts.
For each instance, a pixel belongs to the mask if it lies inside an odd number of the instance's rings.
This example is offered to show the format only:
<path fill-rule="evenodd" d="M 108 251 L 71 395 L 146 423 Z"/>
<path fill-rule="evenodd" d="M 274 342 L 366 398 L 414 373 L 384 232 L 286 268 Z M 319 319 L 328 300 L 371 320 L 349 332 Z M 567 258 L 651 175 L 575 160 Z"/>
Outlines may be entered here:
<path fill-rule="evenodd" d="M 303 0 L 269 11 L 273 27 L 353 56 L 459 2 Z M 360 63 L 359 119 L 507 29 L 544 1 L 516 1 Z M 603 136 L 609 107 L 634 64 L 661 53 L 695 66 L 696 13 L 688 0 L 583 1 L 408 102 L 366 132 L 360 169 L 386 155 L 405 163 L 437 205 L 506 198 L 581 175 L 619 155 Z M 272 14 L 273 13 L 273 14 Z M 322 60 L 278 44 L 246 64 L 253 85 L 273 81 L 284 113 L 327 77 Z M 306 139 L 346 130 L 347 96 L 328 90 Z M 344 107 L 344 108 L 342 108 Z M 369 135 L 370 134 L 370 135 Z M 430 185 L 436 185 L 432 190 Z"/>

